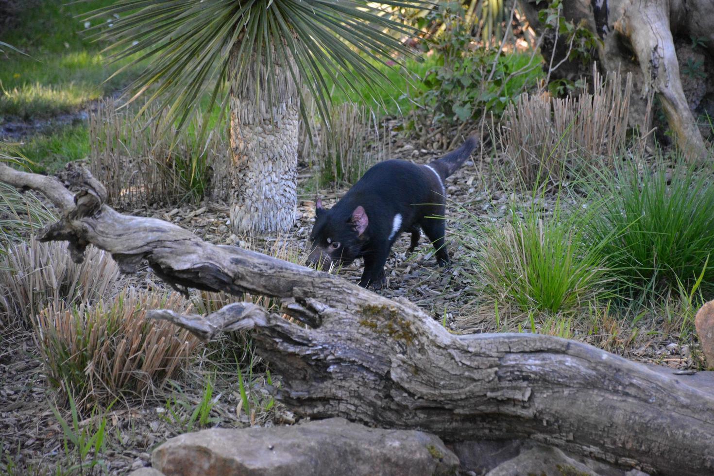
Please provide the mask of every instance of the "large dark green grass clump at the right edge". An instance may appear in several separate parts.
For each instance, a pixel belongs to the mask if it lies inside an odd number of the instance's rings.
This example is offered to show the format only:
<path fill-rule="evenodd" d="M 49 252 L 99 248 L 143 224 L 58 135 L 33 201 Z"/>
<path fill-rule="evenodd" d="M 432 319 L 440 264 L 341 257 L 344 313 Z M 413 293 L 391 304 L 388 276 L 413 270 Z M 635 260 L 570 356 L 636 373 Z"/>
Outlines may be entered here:
<path fill-rule="evenodd" d="M 656 296 L 693 287 L 714 292 L 714 186 L 710 173 L 687 166 L 655 171 L 630 163 L 598 175 L 590 198 L 597 213 L 583 223 L 585 236 L 603 241 L 605 265 L 624 297 Z"/>

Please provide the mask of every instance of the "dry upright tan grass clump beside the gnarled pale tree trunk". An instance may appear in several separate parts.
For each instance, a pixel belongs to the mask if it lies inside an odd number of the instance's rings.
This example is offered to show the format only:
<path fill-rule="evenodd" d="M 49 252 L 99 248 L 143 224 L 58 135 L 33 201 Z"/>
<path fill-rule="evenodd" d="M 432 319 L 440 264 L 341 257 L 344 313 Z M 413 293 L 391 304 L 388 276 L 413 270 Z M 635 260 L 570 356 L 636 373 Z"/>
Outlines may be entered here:
<path fill-rule="evenodd" d="M 593 93 L 550 98 L 522 94 L 506 109 L 500 141 L 522 185 L 609 168 L 625 151 L 632 78 L 594 70 Z"/>

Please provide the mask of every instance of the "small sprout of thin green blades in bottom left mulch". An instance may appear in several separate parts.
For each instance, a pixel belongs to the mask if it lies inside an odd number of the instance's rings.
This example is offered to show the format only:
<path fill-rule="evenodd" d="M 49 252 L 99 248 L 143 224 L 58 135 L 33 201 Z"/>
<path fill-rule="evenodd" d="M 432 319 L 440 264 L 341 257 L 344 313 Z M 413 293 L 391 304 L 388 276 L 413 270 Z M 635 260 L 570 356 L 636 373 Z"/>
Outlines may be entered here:
<path fill-rule="evenodd" d="M 50 407 L 62 427 L 65 457 L 67 460 L 76 460 L 74 465 L 65 468 L 64 471 L 70 474 L 74 472 L 84 474 L 84 470 L 91 472 L 94 467 L 100 467 L 104 472 L 108 472 L 109 469 L 104 460 L 99 457 L 100 453 L 106 450 L 106 417 L 101 417 L 99 425 L 96 425 L 94 415 L 96 407 L 94 407 L 89 418 L 89 425 L 81 425 L 77 405 L 71 394 L 69 395 L 69 407 L 71 422 L 62 417 L 57 407 L 54 405 Z"/>

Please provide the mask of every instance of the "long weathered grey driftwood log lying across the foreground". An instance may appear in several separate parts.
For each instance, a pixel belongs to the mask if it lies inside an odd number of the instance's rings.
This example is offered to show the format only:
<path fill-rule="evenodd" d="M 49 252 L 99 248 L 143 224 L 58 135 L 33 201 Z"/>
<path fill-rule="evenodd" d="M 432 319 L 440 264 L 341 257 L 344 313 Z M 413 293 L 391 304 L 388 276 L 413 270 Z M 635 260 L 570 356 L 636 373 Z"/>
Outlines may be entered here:
<path fill-rule="evenodd" d="M 154 316 L 203 339 L 253 329 L 258 353 L 282 375 L 278 397 L 301 415 L 426 430 L 447 441 L 531 438 L 663 474 L 714 472 L 714 395 L 674 375 L 545 335 L 452 335 L 406 300 L 122 215 L 102 203 L 103 188 L 86 173 L 70 178 L 90 184 L 76 205 L 59 182 L 0 164 L 0 181 L 44 191 L 61 208 L 41 239 L 69 240 L 78 259 L 91 243 L 129 272 L 148 260 L 174 285 L 280 298 L 282 312 L 303 325 L 252 304 L 206 317 Z"/>

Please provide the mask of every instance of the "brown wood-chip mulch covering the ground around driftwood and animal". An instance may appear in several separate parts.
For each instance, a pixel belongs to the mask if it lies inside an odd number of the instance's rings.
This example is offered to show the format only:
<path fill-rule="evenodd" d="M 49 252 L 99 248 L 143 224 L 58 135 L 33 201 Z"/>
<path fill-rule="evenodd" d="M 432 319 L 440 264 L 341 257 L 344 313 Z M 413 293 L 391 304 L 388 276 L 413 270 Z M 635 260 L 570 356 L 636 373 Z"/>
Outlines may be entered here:
<path fill-rule="evenodd" d="M 391 146 L 394 158 L 406 158 L 426 163 L 442 155 L 441 151 L 415 148 L 398 136 L 393 136 Z M 386 265 L 388 288 L 380 293 L 388 297 L 401 297 L 424 308 L 434 319 L 453 332 L 480 333 L 496 331 L 493 306 L 484 305 L 478 281 L 473 277 L 473 259 L 476 258 L 478 241 L 464 243 L 459 237 L 466 226 L 474 223 L 498 223 L 511 216 L 511 207 L 516 204 L 533 204 L 530 194 L 503 191 L 493 186 L 488 164 L 475 156 L 454 176 L 448 178 L 446 187 L 451 206 L 448 209 L 448 242 L 453 263 L 451 268 L 438 268 L 433 248 L 421 238 L 413 255 L 407 255 L 408 234 L 394 245 Z M 301 171 L 308 176 L 309 171 Z M 345 193 L 320 191 L 325 206 L 329 207 Z M 246 238 L 229 231 L 228 207 L 222 203 L 203 203 L 177 208 L 125 210 L 142 216 L 155 216 L 184 228 L 193 230 L 201 238 L 212 243 L 234 244 L 264 253 L 291 257 L 303 257 L 308 250 L 308 235 L 314 222 L 314 192 L 305 193 L 298 203 L 297 220 L 288 236 Z M 546 196 L 535 205 L 544 210 L 553 209 L 555 196 Z M 353 263 L 342 270 L 344 278 L 357 282 L 361 263 Z M 141 285 L 146 280 L 156 283 L 150 270 L 124 278 L 128 283 Z M 538 326 L 540 327 L 540 320 Z M 518 325 L 530 329 L 528 318 L 511 316 L 511 324 L 505 330 L 518 330 Z M 603 318 L 597 326 L 573 320 L 573 338 L 605 348 L 625 357 L 648 363 L 669 365 L 681 370 L 696 370 L 700 363 L 695 343 L 681 342 L 679 328 L 669 329 L 661 319 L 653 315 L 643 318 L 637 325 L 615 322 Z M 635 331 L 638 329 L 637 331 Z M 504 330 L 501 328 L 501 330 Z M 79 474 L 70 470 L 76 464 L 76 450 L 69 445 L 69 454 L 64 445 L 64 432 L 51 410 L 52 405 L 61 408 L 61 415 L 71 420 L 66 403 L 56 401 L 56 395 L 48 389 L 32 334 L 29 331 L 6 336 L 0 351 L 0 467 L 12 474 L 46 474 L 61 472 Z M 149 464 L 151 450 L 167 438 L 188 430 L 188 413 L 178 412 L 178 421 L 170 417 L 166 402 L 175 397 L 193 408 L 201 400 L 206 375 L 215 375 L 213 395 L 215 404 L 211 410 L 213 419 L 208 426 L 244 427 L 248 425 L 276 425 L 296 420 L 279 402 L 267 405 L 271 400 L 266 375 L 261 373 L 261 364 L 254 363 L 256 374 L 248 385 L 251 400 L 261 402 L 246 412 L 241 409 L 241 396 L 235 372 L 230 368 L 216 367 L 211 360 L 211 348 L 206 347 L 196 360 L 191 373 L 176 389 L 157 389 L 155 397 L 143 402 L 118 402 L 107 418 L 106 451 L 99 459 L 102 464 L 94 467 L 96 472 L 123 474 Z M 279 385 L 279 378 L 273 376 Z M 266 407 L 270 407 L 266 410 Z M 81 428 L 92 431 L 101 415 L 81 415 Z M 197 429 L 195 426 L 193 429 Z M 89 461 L 89 459 L 88 459 Z M 89 474 L 87 467 L 84 474 Z"/>

